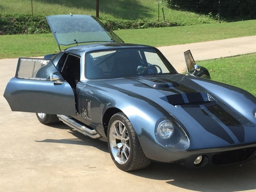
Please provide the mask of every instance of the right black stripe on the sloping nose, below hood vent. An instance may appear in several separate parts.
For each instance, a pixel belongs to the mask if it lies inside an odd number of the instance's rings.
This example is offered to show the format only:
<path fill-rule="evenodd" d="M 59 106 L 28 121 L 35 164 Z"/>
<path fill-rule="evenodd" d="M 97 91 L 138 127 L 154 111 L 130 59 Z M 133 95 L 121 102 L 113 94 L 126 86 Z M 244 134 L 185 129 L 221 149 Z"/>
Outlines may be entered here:
<path fill-rule="evenodd" d="M 244 127 L 236 118 L 218 105 L 207 106 L 207 109 L 233 132 L 239 142 L 244 142 Z"/>

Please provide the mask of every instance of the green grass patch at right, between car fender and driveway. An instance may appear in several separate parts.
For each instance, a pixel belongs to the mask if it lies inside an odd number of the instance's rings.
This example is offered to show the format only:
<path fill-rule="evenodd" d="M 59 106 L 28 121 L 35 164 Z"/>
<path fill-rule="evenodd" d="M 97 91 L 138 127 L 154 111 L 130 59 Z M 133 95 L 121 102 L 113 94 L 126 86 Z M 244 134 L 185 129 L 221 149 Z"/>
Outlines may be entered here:
<path fill-rule="evenodd" d="M 198 61 L 207 68 L 211 79 L 227 83 L 252 93 L 256 97 L 256 54 L 245 54 L 230 58 Z"/>

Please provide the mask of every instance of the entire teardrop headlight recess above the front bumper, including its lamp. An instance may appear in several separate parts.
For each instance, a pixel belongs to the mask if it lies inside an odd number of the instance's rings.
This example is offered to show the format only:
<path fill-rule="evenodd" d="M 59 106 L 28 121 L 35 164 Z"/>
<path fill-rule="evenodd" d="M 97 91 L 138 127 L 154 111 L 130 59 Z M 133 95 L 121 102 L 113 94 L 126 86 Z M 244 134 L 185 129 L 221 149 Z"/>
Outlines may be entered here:
<path fill-rule="evenodd" d="M 182 127 L 172 119 L 162 119 L 156 124 L 156 139 L 170 150 L 186 150 L 190 141 Z"/>

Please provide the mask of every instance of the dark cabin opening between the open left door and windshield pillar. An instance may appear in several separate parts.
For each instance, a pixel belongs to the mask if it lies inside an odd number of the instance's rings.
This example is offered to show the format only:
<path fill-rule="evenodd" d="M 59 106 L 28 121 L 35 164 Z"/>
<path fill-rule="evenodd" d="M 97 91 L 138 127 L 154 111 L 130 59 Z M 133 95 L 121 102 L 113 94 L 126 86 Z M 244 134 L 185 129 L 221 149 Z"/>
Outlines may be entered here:
<path fill-rule="evenodd" d="M 80 57 L 68 54 L 61 67 L 61 75 L 72 88 L 76 88 L 77 82 L 80 81 Z"/>

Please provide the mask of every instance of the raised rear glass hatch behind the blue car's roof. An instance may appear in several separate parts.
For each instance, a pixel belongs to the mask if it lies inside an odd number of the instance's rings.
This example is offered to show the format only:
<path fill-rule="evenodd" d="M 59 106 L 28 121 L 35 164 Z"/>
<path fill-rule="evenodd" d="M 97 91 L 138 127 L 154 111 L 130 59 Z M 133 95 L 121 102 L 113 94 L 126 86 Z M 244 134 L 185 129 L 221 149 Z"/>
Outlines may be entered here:
<path fill-rule="evenodd" d="M 60 45 L 89 42 L 124 42 L 102 22 L 90 15 L 70 13 L 70 15 L 51 15 L 46 19 L 59 48 Z"/>

